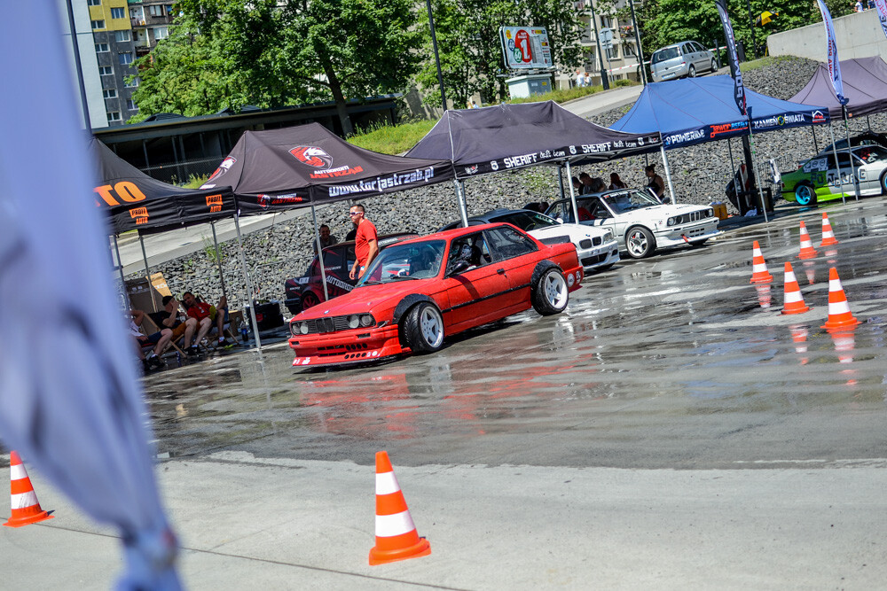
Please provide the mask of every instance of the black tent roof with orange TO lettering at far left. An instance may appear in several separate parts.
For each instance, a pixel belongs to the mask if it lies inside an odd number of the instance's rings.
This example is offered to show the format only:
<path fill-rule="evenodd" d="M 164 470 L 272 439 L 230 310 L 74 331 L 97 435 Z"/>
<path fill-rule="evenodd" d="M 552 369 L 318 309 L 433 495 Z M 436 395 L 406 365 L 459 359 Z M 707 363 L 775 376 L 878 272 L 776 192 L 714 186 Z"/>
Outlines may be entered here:
<path fill-rule="evenodd" d="M 130 229 L 158 231 L 234 214 L 231 187 L 205 191 L 163 183 L 118 157 L 95 137 L 90 138 L 89 151 L 98 166 L 96 202 L 111 216 L 114 234 Z"/>

